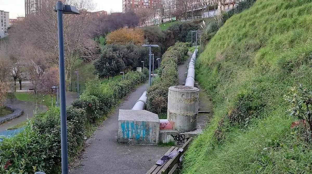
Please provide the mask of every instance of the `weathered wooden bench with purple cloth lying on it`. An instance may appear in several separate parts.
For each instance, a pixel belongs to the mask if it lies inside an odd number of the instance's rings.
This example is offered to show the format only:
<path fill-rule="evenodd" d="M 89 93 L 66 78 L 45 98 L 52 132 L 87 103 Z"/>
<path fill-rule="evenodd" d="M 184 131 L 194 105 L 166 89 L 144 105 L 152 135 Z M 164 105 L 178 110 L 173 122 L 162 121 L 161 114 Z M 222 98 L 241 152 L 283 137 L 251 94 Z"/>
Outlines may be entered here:
<path fill-rule="evenodd" d="M 192 137 L 188 139 L 188 141 L 183 145 L 183 147 L 171 147 L 165 155 L 168 155 L 170 152 L 178 151 L 179 149 L 183 149 L 183 152 L 178 152 L 173 158 L 170 158 L 167 162 L 164 162 L 162 165 L 154 164 L 154 166 L 146 173 L 146 174 L 173 174 L 173 172 L 178 168 L 180 163 L 180 157 L 184 154 L 184 152 L 188 149 L 190 142 L 192 141 Z"/>

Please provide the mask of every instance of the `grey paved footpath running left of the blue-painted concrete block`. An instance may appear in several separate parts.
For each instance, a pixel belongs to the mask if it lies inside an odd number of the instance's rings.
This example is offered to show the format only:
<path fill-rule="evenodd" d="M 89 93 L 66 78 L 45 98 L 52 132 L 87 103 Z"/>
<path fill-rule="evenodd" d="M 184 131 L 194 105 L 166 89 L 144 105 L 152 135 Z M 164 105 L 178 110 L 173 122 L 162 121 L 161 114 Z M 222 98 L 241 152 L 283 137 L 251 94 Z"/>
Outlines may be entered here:
<path fill-rule="evenodd" d="M 117 143 L 119 109 L 131 109 L 146 90 L 148 84 L 141 85 L 119 105 L 103 125 L 87 142 L 82 159 L 73 166 L 72 174 L 141 174 L 146 173 L 165 154 L 169 147 L 152 145 L 129 145 Z M 92 142 L 92 143 L 91 143 Z"/>

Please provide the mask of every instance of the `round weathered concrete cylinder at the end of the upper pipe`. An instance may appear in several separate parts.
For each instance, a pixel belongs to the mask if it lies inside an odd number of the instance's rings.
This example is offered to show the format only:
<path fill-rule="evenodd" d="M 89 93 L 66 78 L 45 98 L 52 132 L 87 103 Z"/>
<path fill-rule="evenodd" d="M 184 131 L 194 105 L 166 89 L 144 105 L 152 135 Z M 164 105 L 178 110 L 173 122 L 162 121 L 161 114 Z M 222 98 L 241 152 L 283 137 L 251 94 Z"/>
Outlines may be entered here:
<path fill-rule="evenodd" d="M 168 92 L 167 119 L 179 132 L 197 127 L 199 89 L 192 86 L 171 86 Z"/>

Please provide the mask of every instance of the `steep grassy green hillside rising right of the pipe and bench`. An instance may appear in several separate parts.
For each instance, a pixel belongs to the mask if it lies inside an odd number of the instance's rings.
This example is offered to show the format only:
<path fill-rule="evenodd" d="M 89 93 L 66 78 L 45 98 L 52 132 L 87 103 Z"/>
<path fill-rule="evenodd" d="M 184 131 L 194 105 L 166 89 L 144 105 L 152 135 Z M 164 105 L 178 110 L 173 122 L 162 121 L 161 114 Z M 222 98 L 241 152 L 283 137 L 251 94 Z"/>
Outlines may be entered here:
<path fill-rule="evenodd" d="M 197 60 L 214 103 L 183 173 L 311 173 L 312 147 L 284 95 L 312 89 L 312 2 L 257 0 L 219 29 Z"/>

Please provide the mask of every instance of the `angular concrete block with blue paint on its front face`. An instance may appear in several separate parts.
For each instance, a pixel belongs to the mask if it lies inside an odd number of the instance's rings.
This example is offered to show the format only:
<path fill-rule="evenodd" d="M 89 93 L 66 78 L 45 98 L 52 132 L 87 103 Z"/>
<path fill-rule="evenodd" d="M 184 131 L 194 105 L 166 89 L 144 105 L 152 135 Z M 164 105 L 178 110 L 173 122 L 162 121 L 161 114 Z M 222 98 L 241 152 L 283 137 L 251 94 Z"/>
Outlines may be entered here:
<path fill-rule="evenodd" d="M 159 118 L 146 110 L 119 109 L 118 142 L 158 144 Z"/>

